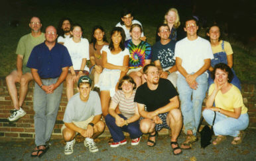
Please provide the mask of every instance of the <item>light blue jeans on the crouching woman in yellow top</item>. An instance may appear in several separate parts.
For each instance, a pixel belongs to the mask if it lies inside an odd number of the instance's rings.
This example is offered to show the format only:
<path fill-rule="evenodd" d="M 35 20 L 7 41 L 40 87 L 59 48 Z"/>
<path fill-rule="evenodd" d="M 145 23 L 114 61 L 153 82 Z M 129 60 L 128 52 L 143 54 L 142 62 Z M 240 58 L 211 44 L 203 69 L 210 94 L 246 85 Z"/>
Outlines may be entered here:
<path fill-rule="evenodd" d="M 212 125 L 214 120 L 214 111 L 204 110 L 204 119 L 209 125 Z M 238 119 L 227 117 L 220 112 L 216 112 L 216 119 L 214 123 L 214 134 L 229 135 L 231 137 L 238 137 L 239 131 L 246 129 L 249 125 L 249 116 L 247 113 L 241 114 Z"/>

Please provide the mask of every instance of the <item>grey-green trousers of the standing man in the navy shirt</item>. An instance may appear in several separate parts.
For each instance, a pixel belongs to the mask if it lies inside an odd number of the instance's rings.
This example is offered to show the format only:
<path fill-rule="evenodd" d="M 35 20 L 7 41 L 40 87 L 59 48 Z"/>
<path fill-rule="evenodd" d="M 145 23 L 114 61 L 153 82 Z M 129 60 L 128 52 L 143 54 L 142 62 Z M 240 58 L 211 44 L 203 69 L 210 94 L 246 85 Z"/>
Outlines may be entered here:
<path fill-rule="evenodd" d="M 46 86 L 54 84 L 56 79 L 42 79 Z M 36 146 L 45 145 L 50 140 L 52 130 L 60 106 L 63 83 L 52 94 L 46 94 L 38 84 L 34 83 L 34 130 Z"/>

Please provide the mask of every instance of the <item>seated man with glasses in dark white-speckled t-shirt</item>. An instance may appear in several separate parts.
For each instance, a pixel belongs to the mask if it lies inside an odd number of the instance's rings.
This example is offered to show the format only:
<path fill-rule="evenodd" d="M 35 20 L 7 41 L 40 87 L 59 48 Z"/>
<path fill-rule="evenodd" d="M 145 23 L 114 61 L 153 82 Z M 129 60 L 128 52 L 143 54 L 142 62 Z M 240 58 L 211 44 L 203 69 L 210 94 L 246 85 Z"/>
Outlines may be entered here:
<path fill-rule="evenodd" d="M 175 41 L 170 40 L 170 28 L 168 24 L 160 24 L 158 27 L 158 33 L 160 41 L 156 42 L 153 46 L 153 61 L 159 68 L 160 77 L 162 79 L 168 79 L 172 82 L 176 88 L 177 84 L 177 67 L 174 59 Z"/>

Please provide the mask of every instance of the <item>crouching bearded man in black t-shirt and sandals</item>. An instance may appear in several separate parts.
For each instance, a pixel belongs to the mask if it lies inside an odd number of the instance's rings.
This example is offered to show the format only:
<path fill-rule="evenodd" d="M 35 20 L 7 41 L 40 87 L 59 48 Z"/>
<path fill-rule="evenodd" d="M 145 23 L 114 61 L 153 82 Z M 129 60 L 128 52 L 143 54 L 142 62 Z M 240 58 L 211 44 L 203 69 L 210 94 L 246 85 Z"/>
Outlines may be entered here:
<path fill-rule="evenodd" d="M 164 127 L 172 131 L 170 146 L 173 154 L 181 154 L 182 150 L 177 143 L 182 128 L 182 114 L 178 109 L 178 93 L 170 81 L 160 79 L 159 69 L 155 65 L 146 65 L 143 75 L 147 83 L 139 86 L 134 100 L 143 117 L 140 122 L 141 132 L 149 133 L 147 145 L 156 145 L 157 131 Z"/>

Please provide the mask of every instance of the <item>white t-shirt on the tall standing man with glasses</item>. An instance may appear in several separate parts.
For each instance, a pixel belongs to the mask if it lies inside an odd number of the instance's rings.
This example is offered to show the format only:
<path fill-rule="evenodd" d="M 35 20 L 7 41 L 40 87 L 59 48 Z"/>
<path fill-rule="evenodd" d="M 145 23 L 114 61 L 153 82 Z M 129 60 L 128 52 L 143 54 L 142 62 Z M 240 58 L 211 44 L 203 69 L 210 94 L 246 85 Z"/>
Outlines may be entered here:
<path fill-rule="evenodd" d="M 195 73 L 204 65 L 204 59 L 213 59 L 214 55 L 210 42 L 198 36 L 193 41 L 187 37 L 178 41 L 174 57 L 182 59 L 182 67 L 187 73 Z"/>

